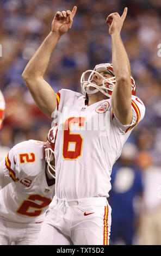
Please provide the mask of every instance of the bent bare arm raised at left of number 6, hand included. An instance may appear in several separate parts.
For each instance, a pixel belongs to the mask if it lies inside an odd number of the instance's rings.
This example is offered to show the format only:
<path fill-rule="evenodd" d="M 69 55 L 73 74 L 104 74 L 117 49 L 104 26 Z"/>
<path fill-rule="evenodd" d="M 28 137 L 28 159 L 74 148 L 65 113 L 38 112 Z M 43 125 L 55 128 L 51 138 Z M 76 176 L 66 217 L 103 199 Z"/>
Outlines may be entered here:
<path fill-rule="evenodd" d="M 29 60 L 22 74 L 34 101 L 48 117 L 51 117 L 57 106 L 57 98 L 52 87 L 44 80 L 44 74 L 53 49 L 61 35 L 71 28 L 76 11 L 76 6 L 72 11 L 57 11 L 52 22 L 51 32 Z"/>

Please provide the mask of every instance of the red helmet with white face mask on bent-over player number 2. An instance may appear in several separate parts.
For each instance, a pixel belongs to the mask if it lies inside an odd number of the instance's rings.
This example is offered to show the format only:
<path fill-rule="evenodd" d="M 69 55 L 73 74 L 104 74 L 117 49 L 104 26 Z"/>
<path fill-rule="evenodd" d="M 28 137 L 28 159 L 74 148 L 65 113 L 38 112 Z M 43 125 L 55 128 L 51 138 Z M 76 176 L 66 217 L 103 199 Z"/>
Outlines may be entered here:
<path fill-rule="evenodd" d="M 45 145 L 45 161 L 47 162 L 47 172 L 55 179 L 55 175 L 51 173 L 50 168 L 55 173 L 55 166 L 51 164 L 51 161 L 54 159 L 54 148 L 55 141 L 57 137 L 58 126 L 53 126 L 47 135 L 47 141 Z"/>

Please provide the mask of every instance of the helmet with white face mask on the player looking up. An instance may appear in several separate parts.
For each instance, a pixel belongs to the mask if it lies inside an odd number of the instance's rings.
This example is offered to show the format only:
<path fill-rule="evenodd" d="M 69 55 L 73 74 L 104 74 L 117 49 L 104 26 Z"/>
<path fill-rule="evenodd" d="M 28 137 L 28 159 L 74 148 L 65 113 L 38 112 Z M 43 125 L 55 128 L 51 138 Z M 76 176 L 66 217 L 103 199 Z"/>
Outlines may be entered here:
<path fill-rule="evenodd" d="M 100 72 L 106 71 L 111 74 L 113 77 L 105 78 Z M 86 75 L 89 73 L 89 75 Z M 97 84 L 92 82 L 92 78 L 94 74 L 103 78 L 102 86 L 97 86 Z M 86 70 L 83 72 L 80 78 L 80 86 L 82 89 L 82 94 L 86 96 L 86 94 L 94 94 L 100 91 L 104 95 L 111 97 L 112 92 L 116 83 L 116 78 L 113 71 L 113 64 L 111 63 L 102 63 L 95 66 L 94 70 Z M 136 94 L 136 86 L 133 76 L 131 75 L 131 83 L 132 83 L 132 95 Z M 95 89 L 90 89 L 90 87 L 94 87 Z"/>

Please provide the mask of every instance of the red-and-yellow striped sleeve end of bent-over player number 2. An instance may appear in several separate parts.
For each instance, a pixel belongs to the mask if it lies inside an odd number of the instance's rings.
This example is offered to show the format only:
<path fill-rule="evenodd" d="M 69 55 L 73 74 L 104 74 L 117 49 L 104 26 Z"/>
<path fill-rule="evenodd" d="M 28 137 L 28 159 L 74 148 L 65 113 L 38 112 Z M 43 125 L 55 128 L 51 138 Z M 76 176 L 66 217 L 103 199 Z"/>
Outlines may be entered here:
<path fill-rule="evenodd" d="M 3 170 L 5 177 L 10 181 L 16 182 L 19 180 L 20 173 L 18 173 L 16 168 L 16 154 L 13 148 L 9 151 L 7 157 L 5 157 Z"/>

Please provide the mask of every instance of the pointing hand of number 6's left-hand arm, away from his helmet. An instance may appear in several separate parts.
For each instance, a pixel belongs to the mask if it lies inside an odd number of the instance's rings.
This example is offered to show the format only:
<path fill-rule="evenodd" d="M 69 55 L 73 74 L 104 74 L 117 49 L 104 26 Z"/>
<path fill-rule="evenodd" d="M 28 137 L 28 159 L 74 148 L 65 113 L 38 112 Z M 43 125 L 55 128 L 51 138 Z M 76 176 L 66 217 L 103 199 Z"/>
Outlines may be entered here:
<path fill-rule="evenodd" d="M 59 35 L 66 33 L 72 26 L 76 11 L 76 6 L 73 7 L 72 11 L 57 11 L 52 22 L 52 32 L 58 33 Z"/>

